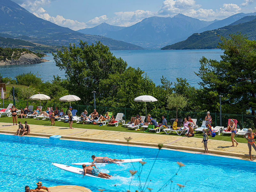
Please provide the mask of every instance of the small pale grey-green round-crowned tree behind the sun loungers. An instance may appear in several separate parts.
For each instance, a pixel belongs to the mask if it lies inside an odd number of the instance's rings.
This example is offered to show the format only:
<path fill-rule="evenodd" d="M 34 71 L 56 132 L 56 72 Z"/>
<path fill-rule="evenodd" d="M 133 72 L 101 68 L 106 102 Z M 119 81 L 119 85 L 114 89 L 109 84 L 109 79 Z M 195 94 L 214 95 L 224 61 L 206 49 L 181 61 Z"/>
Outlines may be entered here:
<path fill-rule="evenodd" d="M 167 99 L 167 108 L 176 109 L 176 118 L 178 118 L 178 109 L 183 109 L 187 105 L 187 98 L 178 93 L 172 93 Z"/>

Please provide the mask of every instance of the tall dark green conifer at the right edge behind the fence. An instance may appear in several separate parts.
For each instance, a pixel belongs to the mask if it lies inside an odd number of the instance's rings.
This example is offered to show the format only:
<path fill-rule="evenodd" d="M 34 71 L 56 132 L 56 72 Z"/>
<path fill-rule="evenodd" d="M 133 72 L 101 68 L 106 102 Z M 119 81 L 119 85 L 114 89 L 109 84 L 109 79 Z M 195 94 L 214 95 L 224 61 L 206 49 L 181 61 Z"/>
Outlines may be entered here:
<path fill-rule="evenodd" d="M 201 100 L 212 109 L 218 108 L 219 95 L 224 113 L 242 113 L 256 109 L 256 42 L 241 33 L 221 37 L 221 60 L 200 60 L 196 73 L 202 79 Z"/>

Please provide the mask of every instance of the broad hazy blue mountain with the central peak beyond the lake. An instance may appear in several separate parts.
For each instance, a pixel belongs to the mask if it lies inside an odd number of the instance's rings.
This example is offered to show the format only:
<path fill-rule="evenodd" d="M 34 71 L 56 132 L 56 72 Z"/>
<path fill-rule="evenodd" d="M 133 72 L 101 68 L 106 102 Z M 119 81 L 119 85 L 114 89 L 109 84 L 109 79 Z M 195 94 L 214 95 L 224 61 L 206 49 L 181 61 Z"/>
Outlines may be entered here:
<path fill-rule="evenodd" d="M 173 18 L 149 17 L 130 27 L 108 32 L 106 36 L 148 49 L 161 48 L 166 44 L 186 39 L 196 30 L 212 22 L 201 21 L 182 14 Z"/>

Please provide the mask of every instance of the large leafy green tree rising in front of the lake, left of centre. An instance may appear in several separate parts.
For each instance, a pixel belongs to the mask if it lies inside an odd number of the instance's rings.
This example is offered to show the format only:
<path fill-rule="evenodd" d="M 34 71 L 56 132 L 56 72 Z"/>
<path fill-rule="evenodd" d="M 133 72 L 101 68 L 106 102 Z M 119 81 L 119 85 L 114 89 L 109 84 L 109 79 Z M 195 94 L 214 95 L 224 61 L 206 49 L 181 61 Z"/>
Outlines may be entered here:
<path fill-rule="evenodd" d="M 108 46 L 100 42 L 88 45 L 80 41 L 79 45 L 70 44 L 69 48 L 63 47 L 52 55 L 56 66 L 65 71 L 65 87 L 88 104 L 93 99 L 92 91 L 98 90 L 100 81 L 108 79 L 110 74 L 122 74 L 127 63 L 116 58 Z M 98 96 L 102 98 L 101 93 Z"/>

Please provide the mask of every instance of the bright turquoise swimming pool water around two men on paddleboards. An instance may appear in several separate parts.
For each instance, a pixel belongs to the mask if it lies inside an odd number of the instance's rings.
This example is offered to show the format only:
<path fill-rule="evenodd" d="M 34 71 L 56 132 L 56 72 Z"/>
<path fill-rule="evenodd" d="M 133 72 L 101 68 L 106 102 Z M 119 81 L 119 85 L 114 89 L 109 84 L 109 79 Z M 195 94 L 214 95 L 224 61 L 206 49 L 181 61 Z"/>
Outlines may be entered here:
<path fill-rule="evenodd" d="M 79 142 L 71 140 L 49 140 L 34 137 L 17 137 L 0 134 L 0 191 L 24 191 L 24 187 L 36 188 L 42 181 L 44 186 L 78 185 L 105 191 L 126 191 L 129 189 L 132 164 L 109 164 L 99 168 L 113 175 L 111 180 L 82 178 L 54 167 L 51 163 L 68 164 L 91 161 L 92 155 L 129 158 L 127 146 Z M 143 166 L 142 180 L 146 180 L 158 149 L 129 147 L 131 158 L 142 158 L 147 162 Z M 164 181 L 178 170 L 177 161 L 186 166 L 173 179 L 173 184 L 185 184 L 183 191 L 234 192 L 252 191 L 255 182 L 255 163 L 224 157 L 190 154 L 172 150 L 160 150 L 155 168 L 153 168 L 148 187 L 157 191 Z M 135 163 L 138 170 L 140 163 Z M 76 165 L 73 165 L 76 166 Z M 79 166 L 77 166 L 79 167 Z M 131 191 L 138 189 L 139 180 L 134 176 Z M 147 190 L 148 191 L 148 190 Z M 170 191 L 165 188 L 162 191 Z"/>

